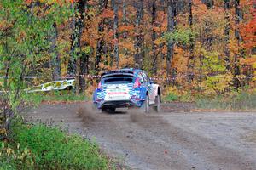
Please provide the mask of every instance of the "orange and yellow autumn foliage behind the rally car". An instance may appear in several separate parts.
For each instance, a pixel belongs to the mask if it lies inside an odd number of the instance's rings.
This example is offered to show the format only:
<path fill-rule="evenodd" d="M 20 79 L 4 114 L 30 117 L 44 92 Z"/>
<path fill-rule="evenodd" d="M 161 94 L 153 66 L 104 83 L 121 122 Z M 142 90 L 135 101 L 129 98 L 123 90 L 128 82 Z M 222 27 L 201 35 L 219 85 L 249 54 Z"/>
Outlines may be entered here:
<path fill-rule="evenodd" d="M 48 46 L 35 48 L 39 50 L 24 61 L 27 67 L 22 74 L 48 78 L 33 80 L 30 86 L 58 79 L 55 77 L 72 76 L 77 79 L 78 89 L 84 90 L 93 88 L 97 82 L 83 77 L 85 75 L 140 67 L 163 87 L 172 86 L 172 89 L 180 89 L 180 93 L 215 95 L 238 88 L 255 88 L 256 9 L 253 0 L 19 2 L 20 8 L 31 13 L 27 20 L 31 16 L 48 19 L 49 29 L 44 30 L 44 37 L 41 37 Z M 4 5 L 1 2 L 0 8 L 6 8 Z M 168 13 L 169 7 L 173 16 Z M 169 19 L 174 24 L 172 31 L 168 30 Z M 14 26 L 15 20 L 1 16 L 2 54 L 6 47 L 3 37 L 8 37 L 5 33 Z M 17 31 L 18 38 L 14 40 L 22 44 L 29 32 Z M 171 51 L 168 50 L 170 44 L 173 45 Z M 172 56 L 170 60 L 168 56 Z M 4 75 L 8 58 L 1 62 L 0 73 Z"/>

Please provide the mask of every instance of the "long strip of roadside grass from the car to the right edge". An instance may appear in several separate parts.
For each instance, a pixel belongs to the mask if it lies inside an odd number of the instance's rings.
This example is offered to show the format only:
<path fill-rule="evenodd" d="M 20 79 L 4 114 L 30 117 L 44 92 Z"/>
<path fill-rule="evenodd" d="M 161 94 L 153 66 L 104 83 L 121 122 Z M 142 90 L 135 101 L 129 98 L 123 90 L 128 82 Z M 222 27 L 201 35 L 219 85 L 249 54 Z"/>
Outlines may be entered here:
<path fill-rule="evenodd" d="M 194 102 L 198 109 L 214 111 L 256 111 L 256 92 L 229 92 L 221 95 L 203 95 L 169 92 L 164 102 Z"/>

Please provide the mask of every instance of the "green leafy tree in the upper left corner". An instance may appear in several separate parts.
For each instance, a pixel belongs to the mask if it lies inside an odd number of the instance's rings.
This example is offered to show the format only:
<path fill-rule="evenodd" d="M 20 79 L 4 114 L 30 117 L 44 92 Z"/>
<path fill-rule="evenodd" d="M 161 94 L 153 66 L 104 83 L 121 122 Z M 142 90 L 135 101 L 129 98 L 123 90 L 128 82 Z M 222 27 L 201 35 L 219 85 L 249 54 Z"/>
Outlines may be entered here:
<path fill-rule="evenodd" d="M 0 2 L 0 22 L 4 23 L 0 29 L 0 73 L 8 72 L 12 77 L 4 89 L 11 94 L 10 105 L 19 104 L 17 96 L 26 86 L 20 77 L 37 67 L 37 61 L 44 55 L 49 55 L 53 24 L 66 21 L 73 14 L 69 5 L 65 0 L 28 4 L 24 0 Z"/>

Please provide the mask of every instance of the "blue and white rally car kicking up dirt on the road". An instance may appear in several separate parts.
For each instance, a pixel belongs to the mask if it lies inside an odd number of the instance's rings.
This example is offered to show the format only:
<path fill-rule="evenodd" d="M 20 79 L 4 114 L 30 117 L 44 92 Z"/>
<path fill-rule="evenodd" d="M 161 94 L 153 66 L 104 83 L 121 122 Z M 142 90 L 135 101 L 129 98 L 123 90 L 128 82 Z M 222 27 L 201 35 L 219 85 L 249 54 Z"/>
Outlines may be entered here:
<path fill-rule="evenodd" d="M 100 111 L 137 107 L 149 112 L 153 106 L 159 112 L 160 102 L 160 86 L 151 81 L 145 71 L 137 69 L 104 72 L 93 94 L 93 104 Z"/>

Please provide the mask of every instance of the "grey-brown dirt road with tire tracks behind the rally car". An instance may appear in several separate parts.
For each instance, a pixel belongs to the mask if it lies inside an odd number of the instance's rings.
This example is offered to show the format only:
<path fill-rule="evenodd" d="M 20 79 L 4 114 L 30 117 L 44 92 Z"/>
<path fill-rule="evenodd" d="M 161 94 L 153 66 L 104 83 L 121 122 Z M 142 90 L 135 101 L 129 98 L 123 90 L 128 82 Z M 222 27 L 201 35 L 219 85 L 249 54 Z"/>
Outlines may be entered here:
<path fill-rule="evenodd" d="M 41 105 L 26 118 L 96 139 L 132 169 L 256 169 L 256 113 L 96 114 L 89 105 Z"/>

